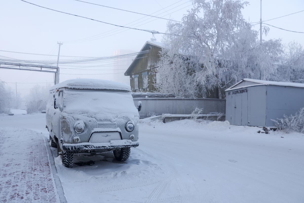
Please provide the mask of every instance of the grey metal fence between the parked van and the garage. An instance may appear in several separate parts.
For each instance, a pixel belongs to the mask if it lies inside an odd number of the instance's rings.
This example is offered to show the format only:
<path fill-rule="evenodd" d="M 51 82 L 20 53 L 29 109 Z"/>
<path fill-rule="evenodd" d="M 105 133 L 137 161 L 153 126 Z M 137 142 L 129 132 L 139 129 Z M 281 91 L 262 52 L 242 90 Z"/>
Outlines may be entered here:
<path fill-rule="evenodd" d="M 225 99 L 180 99 L 180 98 L 133 98 L 135 106 L 141 101 L 140 118 L 162 114 L 191 114 L 196 107 L 202 109 L 200 114 L 226 111 Z"/>

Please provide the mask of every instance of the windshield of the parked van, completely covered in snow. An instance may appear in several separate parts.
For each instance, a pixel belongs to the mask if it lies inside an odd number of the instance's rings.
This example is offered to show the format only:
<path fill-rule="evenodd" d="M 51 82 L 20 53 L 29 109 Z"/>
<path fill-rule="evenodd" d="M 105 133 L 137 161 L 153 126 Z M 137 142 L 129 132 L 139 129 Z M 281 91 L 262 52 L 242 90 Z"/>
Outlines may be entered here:
<path fill-rule="evenodd" d="M 67 113 L 127 113 L 136 111 L 130 92 L 101 90 L 68 90 L 63 95 Z"/>

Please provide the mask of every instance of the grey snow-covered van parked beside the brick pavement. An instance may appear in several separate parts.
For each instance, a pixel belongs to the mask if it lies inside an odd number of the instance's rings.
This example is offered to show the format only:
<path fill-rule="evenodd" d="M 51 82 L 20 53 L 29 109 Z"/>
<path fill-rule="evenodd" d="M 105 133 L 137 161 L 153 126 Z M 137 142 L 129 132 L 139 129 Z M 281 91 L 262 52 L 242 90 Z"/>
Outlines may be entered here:
<path fill-rule="evenodd" d="M 76 153 L 113 151 L 119 161 L 138 142 L 138 111 L 130 86 L 98 79 L 71 79 L 50 88 L 47 129 L 64 166 L 71 168 Z"/>

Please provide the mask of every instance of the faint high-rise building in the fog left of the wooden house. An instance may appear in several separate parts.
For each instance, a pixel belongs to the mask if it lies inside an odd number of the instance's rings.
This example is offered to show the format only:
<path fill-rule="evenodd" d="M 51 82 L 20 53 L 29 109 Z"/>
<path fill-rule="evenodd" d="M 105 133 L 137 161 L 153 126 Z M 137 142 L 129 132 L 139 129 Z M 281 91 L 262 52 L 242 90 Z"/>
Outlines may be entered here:
<path fill-rule="evenodd" d="M 119 49 L 119 50 L 114 51 L 114 56 L 131 54 L 134 52 L 136 52 L 136 51 Z M 130 66 L 132 61 L 133 61 L 133 58 L 131 58 L 130 56 L 128 56 L 126 58 L 120 57 L 120 58 L 117 58 L 114 60 L 113 68 L 109 68 L 109 69 L 113 69 L 113 81 L 122 82 L 122 83 L 130 85 L 130 77 L 125 76 L 123 73 L 127 70 L 127 68 Z"/>

